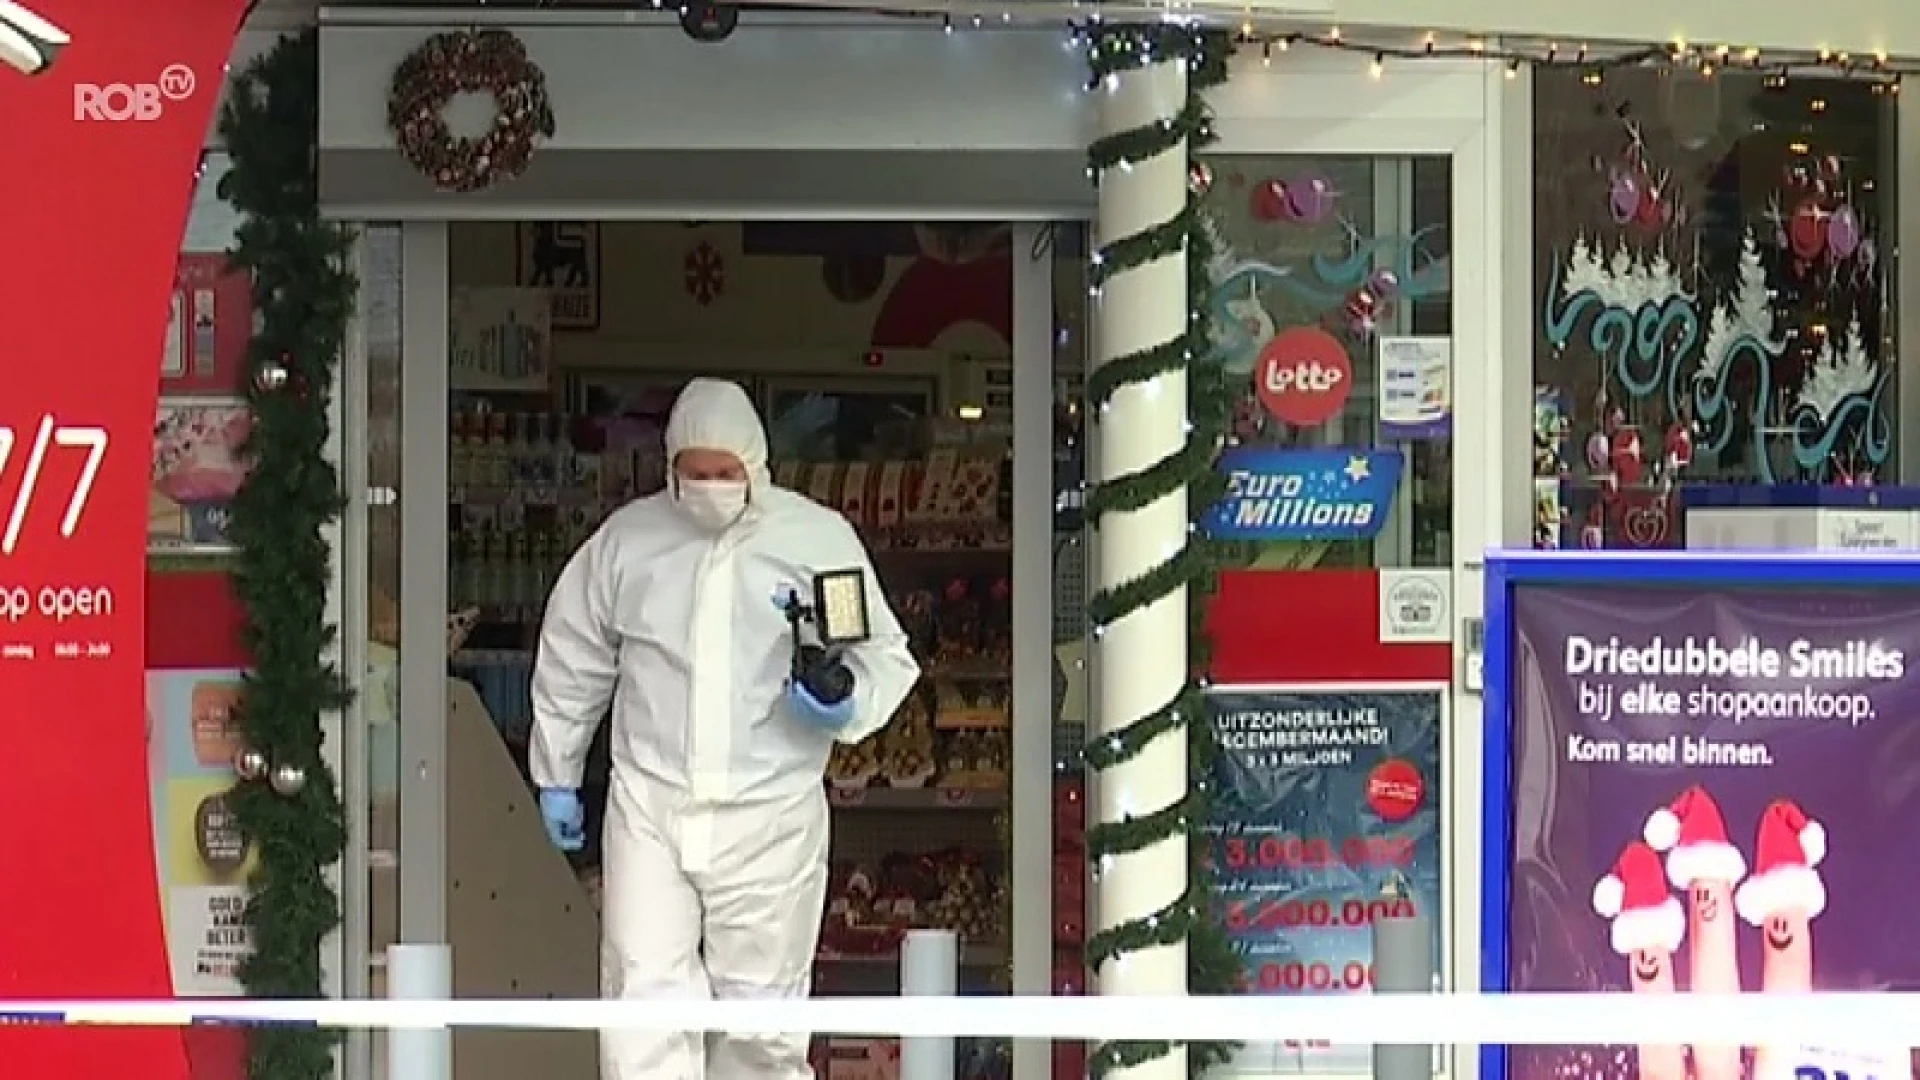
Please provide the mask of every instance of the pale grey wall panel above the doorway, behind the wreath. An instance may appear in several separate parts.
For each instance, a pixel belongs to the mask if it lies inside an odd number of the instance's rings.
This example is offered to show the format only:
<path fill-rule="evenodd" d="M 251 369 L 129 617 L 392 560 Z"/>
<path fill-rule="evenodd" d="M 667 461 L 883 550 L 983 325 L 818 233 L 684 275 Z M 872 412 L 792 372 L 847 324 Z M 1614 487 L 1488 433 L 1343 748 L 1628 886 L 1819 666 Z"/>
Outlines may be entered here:
<path fill-rule="evenodd" d="M 323 150 L 392 148 L 394 67 L 434 29 L 323 27 Z M 547 154 L 1054 150 L 1091 133 L 1083 60 L 1062 29 L 747 25 L 707 46 L 660 25 L 515 33 L 547 73 L 559 119 Z"/>

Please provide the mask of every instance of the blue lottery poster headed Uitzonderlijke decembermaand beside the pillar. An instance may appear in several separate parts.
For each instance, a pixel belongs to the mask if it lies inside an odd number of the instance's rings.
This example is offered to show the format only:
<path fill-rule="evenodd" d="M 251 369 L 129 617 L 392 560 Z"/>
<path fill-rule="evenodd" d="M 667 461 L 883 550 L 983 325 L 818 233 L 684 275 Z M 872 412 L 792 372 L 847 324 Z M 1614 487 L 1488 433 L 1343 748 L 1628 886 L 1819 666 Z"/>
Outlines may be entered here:
<path fill-rule="evenodd" d="M 1413 903 L 1440 965 L 1446 686 L 1215 688 L 1210 826 L 1246 992 L 1365 994 L 1371 924 Z M 1394 899 L 1400 890 L 1402 899 Z M 1248 1045 L 1235 1072 L 1367 1072 L 1365 1045 Z"/>

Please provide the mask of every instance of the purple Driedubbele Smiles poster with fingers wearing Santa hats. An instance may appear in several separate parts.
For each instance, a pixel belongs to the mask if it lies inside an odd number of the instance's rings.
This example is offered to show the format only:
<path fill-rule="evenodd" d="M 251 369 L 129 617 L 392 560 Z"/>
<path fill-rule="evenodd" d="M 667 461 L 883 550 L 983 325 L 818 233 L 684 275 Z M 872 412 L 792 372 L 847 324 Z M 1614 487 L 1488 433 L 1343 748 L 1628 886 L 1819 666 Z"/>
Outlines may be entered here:
<path fill-rule="evenodd" d="M 1513 590 L 1511 990 L 1920 988 L 1920 594 Z M 1903 1047 L 1517 1049 L 1513 1080 L 1907 1080 Z"/>

